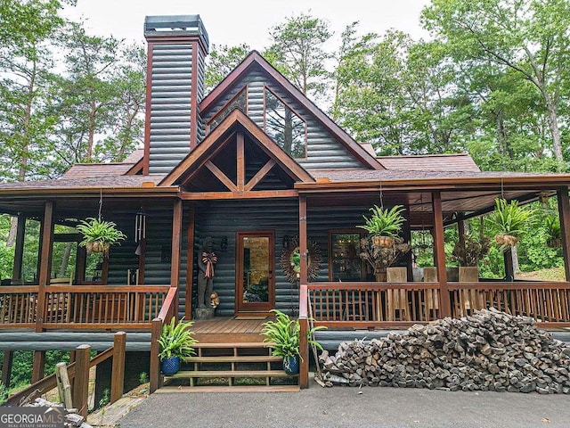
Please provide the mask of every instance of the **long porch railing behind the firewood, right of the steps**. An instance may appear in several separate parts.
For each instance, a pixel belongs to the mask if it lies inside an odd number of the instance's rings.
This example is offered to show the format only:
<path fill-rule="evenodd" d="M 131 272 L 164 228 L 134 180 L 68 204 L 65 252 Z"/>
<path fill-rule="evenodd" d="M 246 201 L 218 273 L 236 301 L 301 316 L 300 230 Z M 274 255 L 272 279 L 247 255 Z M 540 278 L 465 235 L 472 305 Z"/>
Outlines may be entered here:
<path fill-rule="evenodd" d="M 543 326 L 570 325 L 570 283 L 447 283 L 447 288 L 450 308 L 442 307 L 439 283 L 313 283 L 307 292 L 316 324 L 330 328 L 404 327 L 489 307 L 533 317 Z"/>

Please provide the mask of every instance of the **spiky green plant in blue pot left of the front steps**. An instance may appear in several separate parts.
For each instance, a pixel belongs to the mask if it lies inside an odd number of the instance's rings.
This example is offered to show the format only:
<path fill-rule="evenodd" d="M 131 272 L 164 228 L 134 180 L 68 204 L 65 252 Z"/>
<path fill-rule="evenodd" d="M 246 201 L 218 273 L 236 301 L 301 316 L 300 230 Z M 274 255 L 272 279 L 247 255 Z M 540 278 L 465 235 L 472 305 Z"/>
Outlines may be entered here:
<path fill-rule="evenodd" d="M 193 345 L 198 343 L 191 331 L 192 321 L 184 322 L 184 318 L 176 324 L 176 317 L 163 325 L 159 337 L 160 369 L 163 374 L 171 376 L 180 369 L 180 360 L 194 355 Z"/>

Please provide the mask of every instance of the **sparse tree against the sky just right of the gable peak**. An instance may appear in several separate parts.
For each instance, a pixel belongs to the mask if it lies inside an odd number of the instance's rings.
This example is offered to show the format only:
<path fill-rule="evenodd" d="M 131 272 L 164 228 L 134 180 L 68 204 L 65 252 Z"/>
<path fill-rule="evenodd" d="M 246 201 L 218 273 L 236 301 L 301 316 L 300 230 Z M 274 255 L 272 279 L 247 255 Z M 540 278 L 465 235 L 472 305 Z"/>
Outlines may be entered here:
<path fill-rule="evenodd" d="M 272 45 L 265 51 L 265 58 L 303 94 L 326 98 L 330 72 L 324 64 L 331 55 L 323 45 L 332 36 L 329 23 L 301 13 L 274 26 L 270 36 Z"/>

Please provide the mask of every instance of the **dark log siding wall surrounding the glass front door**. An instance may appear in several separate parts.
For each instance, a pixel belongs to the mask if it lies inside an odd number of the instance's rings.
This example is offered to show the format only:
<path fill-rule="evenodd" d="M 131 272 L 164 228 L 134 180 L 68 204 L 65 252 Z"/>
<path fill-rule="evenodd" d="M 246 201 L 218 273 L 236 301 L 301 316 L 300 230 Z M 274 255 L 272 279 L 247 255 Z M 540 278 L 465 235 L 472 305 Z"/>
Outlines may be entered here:
<path fill-rule="evenodd" d="M 211 236 L 218 259 L 214 290 L 220 297 L 220 306 L 216 309 L 216 317 L 234 315 L 235 239 L 238 231 L 275 231 L 275 307 L 289 313 L 292 308 L 298 308 L 297 287 L 287 281 L 280 266 L 283 235 L 298 233 L 296 199 L 211 202 L 197 210 L 196 219 L 199 224 L 196 236 L 197 248 L 201 239 Z M 222 236 L 228 237 L 228 248 L 224 251 L 220 249 Z M 194 277 L 195 287 L 196 277 Z"/>

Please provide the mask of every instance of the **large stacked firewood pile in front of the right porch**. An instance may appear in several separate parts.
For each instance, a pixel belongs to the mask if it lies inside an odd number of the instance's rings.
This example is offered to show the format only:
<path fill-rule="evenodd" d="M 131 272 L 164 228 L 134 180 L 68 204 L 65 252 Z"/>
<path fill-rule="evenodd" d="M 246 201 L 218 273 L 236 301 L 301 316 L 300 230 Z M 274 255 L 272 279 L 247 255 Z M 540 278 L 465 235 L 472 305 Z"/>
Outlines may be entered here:
<path fill-rule="evenodd" d="M 323 351 L 324 381 L 450 391 L 570 393 L 570 347 L 496 309 Z"/>

